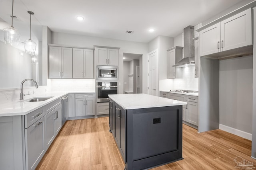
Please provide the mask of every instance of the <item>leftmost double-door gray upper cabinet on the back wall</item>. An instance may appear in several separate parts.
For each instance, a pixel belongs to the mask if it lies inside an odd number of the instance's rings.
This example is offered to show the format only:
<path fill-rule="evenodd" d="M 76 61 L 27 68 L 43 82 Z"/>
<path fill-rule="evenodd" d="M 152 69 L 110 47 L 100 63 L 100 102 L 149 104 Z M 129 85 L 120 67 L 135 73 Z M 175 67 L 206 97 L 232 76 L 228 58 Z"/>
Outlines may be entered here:
<path fill-rule="evenodd" d="M 72 78 L 72 48 L 49 47 L 49 78 Z"/>

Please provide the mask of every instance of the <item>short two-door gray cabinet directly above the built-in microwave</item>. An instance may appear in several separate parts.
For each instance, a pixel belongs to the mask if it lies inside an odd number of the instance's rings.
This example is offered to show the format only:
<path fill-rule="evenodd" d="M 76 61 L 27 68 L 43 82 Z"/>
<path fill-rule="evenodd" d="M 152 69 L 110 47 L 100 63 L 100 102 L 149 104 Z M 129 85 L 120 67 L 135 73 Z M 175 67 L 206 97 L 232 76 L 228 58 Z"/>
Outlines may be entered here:
<path fill-rule="evenodd" d="M 95 47 L 96 65 L 118 66 L 118 49 Z"/>

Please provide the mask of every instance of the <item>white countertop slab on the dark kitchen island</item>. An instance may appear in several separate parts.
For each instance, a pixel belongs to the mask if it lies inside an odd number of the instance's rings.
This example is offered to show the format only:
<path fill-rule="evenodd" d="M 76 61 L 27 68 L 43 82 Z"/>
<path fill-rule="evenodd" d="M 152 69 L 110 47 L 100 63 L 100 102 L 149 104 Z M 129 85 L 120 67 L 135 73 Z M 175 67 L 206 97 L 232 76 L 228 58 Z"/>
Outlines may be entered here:
<path fill-rule="evenodd" d="M 148 94 L 110 94 L 108 96 L 124 109 L 179 106 L 187 104 L 186 102 L 161 98 Z"/>

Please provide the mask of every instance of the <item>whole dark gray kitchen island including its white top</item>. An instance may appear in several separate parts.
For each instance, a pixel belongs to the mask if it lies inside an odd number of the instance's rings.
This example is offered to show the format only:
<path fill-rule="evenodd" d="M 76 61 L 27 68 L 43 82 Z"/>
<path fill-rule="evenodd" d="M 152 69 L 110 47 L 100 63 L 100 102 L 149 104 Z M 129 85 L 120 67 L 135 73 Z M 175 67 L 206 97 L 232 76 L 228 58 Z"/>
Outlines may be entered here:
<path fill-rule="evenodd" d="M 182 105 L 148 94 L 109 96 L 109 127 L 126 170 L 148 169 L 182 158 Z"/>

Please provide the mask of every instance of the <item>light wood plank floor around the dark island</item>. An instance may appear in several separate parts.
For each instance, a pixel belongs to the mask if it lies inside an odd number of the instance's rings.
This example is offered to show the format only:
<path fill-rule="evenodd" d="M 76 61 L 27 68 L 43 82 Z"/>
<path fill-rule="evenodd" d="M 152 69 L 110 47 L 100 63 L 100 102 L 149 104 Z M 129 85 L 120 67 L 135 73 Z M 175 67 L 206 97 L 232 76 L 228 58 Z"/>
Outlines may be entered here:
<path fill-rule="evenodd" d="M 123 170 L 124 162 L 111 133 L 108 117 L 66 121 L 37 170 Z M 234 170 L 237 156 L 250 158 L 251 141 L 222 130 L 197 133 L 183 124 L 183 160 L 152 170 Z"/>

